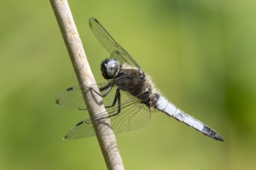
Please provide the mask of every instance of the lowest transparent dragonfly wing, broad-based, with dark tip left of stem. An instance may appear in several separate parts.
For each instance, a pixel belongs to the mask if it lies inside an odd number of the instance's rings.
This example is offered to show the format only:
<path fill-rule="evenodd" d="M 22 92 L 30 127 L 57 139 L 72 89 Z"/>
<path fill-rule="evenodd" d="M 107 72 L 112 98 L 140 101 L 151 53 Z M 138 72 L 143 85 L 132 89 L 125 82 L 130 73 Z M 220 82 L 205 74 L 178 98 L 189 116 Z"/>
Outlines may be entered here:
<path fill-rule="evenodd" d="M 121 111 L 117 116 L 111 116 L 117 113 L 119 106 L 108 108 L 107 112 L 110 116 L 111 126 L 114 133 L 123 133 L 126 131 L 134 130 L 139 127 L 143 127 L 150 121 L 151 111 L 150 109 L 141 103 L 137 97 L 131 98 L 131 95 L 127 92 L 121 92 L 121 99 L 127 99 L 121 103 Z M 102 120 L 102 114 L 92 118 L 93 120 Z M 73 127 L 65 136 L 65 139 L 79 139 L 94 136 L 96 133 L 91 123 L 91 119 L 86 119 L 83 122 L 79 122 Z M 109 135 L 111 133 L 103 133 L 103 135 Z"/>

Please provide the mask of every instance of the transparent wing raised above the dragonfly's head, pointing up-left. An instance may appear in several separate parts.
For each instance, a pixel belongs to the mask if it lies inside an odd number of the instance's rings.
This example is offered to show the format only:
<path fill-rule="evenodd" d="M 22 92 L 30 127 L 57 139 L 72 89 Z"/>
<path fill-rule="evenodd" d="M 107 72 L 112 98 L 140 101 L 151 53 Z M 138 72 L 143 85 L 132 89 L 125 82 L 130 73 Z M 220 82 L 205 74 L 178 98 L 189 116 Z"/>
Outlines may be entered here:
<path fill-rule="evenodd" d="M 102 46 L 108 50 L 112 58 L 118 59 L 120 64 L 128 63 L 140 68 L 131 55 L 125 51 L 125 48 L 122 48 L 118 42 L 115 42 L 113 37 L 109 35 L 108 31 L 96 19 L 90 18 L 89 24 L 91 31 L 98 41 L 102 43 Z"/>

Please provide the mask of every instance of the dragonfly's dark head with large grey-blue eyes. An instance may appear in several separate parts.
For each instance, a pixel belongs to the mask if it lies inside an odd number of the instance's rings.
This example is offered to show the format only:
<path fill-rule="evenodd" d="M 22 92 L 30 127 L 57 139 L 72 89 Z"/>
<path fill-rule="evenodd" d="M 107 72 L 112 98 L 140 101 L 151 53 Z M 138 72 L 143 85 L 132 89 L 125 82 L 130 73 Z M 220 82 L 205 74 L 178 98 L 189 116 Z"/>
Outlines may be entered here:
<path fill-rule="evenodd" d="M 101 71 L 105 79 L 112 79 L 119 71 L 119 62 L 116 59 L 105 59 L 102 61 Z"/>

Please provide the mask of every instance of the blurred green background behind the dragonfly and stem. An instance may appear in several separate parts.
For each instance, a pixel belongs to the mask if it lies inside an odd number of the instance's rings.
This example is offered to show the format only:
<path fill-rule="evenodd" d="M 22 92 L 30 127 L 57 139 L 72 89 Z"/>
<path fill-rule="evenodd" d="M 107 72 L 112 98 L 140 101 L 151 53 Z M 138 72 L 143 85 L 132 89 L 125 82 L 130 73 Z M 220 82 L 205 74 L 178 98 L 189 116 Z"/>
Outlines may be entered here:
<path fill-rule="evenodd" d="M 255 1 L 70 1 L 96 81 L 108 52 L 95 17 L 177 107 L 226 140 L 157 111 L 116 136 L 126 169 L 256 169 Z M 96 137 L 62 140 L 88 117 L 55 105 L 77 85 L 49 1 L 0 6 L 0 169 L 106 169 Z"/>

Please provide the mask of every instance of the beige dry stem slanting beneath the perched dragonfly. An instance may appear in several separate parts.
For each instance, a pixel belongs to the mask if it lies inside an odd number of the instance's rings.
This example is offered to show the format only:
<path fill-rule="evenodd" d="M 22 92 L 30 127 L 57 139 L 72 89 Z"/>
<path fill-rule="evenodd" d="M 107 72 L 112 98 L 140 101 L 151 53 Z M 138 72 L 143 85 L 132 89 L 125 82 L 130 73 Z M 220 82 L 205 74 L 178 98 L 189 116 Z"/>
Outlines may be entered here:
<path fill-rule="evenodd" d="M 95 78 L 90 71 L 90 65 L 86 59 L 84 48 L 79 37 L 79 32 L 77 31 L 73 21 L 73 16 L 67 0 L 50 0 L 50 3 L 60 26 L 61 34 L 66 43 L 67 51 L 73 63 L 73 68 L 78 78 L 79 85 L 96 84 Z M 96 113 L 102 113 L 105 111 L 104 105 L 100 105 L 102 104 L 102 98 L 100 96 L 95 93 L 88 93 L 88 90 L 82 90 L 84 102 L 90 116 L 96 116 Z M 106 133 L 106 131 L 112 131 L 109 127 L 110 122 L 109 120 L 103 122 L 104 123 L 99 121 L 94 123 L 94 129 L 107 167 L 111 170 L 122 170 L 124 169 L 123 161 L 119 154 L 119 148 L 115 136 L 102 135 L 103 133 Z"/>

